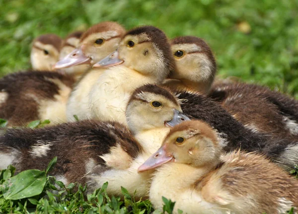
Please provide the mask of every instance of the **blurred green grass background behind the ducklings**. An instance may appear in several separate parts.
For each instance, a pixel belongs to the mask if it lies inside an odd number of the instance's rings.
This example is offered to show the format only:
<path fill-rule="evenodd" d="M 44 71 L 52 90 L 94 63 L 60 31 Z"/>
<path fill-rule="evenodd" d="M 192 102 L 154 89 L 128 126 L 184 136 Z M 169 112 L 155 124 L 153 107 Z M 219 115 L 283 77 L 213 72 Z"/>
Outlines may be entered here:
<path fill-rule="evenodd" d="M 220 77 L 298 98 L 298 0 L 0 0 L 0 76 L 30 68 L 34 37 L 113 20 L 161 28 L 212 47 Z"/>

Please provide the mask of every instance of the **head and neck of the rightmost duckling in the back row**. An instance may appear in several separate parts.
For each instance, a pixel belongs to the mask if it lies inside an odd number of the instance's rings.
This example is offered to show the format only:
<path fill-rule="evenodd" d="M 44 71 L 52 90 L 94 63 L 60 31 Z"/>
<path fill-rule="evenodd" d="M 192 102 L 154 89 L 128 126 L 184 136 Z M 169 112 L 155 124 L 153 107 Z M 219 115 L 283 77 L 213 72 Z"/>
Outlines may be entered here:
<path fill-rule="evenodd" d="M 171 40 L 171 49 L 177 69 L 163 84 L 174 90 L 207 93 L 217 70 L 209 45 L 201 38 L 183 36 Z"/>

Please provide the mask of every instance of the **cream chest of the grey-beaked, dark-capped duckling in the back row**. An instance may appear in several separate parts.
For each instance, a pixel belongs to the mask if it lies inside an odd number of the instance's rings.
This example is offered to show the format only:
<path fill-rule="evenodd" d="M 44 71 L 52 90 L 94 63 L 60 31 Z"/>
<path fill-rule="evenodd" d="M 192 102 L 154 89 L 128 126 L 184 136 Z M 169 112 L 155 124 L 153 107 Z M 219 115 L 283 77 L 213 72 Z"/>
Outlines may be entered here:
<path fill-rule="evenodd" d="M 125 110 L 130 95 L 137 87 L 152 82 L 138 72 L 123 67 L 105 71 L 89 94 L 91 116 L 102 121 L 126 124 Z"/>

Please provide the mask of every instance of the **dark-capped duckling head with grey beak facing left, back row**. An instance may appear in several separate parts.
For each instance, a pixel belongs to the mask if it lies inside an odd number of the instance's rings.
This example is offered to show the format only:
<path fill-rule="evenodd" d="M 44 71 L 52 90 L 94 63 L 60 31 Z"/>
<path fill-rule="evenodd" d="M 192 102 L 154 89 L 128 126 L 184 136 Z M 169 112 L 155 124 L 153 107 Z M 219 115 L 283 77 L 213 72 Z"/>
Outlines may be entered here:
<path fill-rule="evenodd" d="M 107 68 L 119 64 L 162 80 L 175 68 L 166 35 L 153 26 L 142 26 L 128 31 L 117 51 L 96 63 L 93 68 Z"/>

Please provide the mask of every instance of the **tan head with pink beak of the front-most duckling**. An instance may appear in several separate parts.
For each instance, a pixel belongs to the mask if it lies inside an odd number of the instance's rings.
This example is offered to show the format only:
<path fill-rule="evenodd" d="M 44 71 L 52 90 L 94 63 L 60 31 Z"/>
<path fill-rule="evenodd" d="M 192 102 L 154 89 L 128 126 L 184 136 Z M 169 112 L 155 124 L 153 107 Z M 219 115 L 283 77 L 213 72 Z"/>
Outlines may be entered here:
<path fill-rule="evenodd" d="M 202 121 L 185 121 L 171 129 L 161 147 L 139 167 L 147 171 L 173 161 L 195 167 L 216 166 L 221 146 L 217 134 Z"/>

